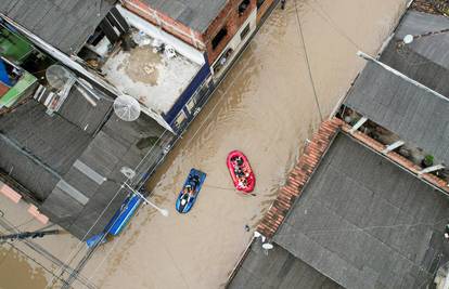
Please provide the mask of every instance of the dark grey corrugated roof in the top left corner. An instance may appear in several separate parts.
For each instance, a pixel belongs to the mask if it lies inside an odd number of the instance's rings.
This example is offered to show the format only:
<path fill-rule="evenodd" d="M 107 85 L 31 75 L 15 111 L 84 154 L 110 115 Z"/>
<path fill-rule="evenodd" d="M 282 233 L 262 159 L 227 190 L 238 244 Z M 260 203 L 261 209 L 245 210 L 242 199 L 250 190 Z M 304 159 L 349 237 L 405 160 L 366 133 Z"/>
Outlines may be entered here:
<path fill-rule="evenodd" d="M 115 0 L 2 0 L 0 12 L 49 44 L 76 54 Z"/>

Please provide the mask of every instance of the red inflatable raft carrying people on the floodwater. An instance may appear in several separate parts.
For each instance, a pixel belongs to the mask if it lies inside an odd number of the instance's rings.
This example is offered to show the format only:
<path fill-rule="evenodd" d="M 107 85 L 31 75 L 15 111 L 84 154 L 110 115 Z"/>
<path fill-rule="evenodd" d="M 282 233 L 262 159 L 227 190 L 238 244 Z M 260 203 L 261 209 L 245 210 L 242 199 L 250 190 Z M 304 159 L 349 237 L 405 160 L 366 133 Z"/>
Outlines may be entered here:
<path fill-rule="evenodd" d="M 253 192 L 256 178 L 246 156 L 242 152 L 232 150 L 228 155 L 227 165 L 235 188 L 246 194 Z"/>

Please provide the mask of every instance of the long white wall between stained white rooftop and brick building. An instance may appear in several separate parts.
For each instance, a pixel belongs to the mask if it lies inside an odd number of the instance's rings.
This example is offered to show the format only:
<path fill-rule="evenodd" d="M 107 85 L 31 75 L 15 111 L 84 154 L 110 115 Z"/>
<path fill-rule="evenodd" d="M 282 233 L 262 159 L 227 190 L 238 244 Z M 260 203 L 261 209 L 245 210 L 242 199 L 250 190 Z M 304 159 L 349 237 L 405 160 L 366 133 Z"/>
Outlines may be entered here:
<path fill-rule="evenodd" d="M 163 29 L 154 26 L 150 22 L 145 21 L 139 15 L 136 15 L 134 13 L 123 8 L 121 5 L 117 4 L 116 8 L 125 17 L 125 19 L 129 23 L 129 25 L 131 25 L 132 27 L 145 32 L 154 39 L 159 39 L 162 42 L 171 45 L 179 54 L 183 55 L 190 61 L 201 66 L 205 64 L 203 52 L 201 52 L 200 50 L 196 50 L 188 43 L 183 42 L 182 40 L 176 38 L 175 36 L 167 34 Z"/>

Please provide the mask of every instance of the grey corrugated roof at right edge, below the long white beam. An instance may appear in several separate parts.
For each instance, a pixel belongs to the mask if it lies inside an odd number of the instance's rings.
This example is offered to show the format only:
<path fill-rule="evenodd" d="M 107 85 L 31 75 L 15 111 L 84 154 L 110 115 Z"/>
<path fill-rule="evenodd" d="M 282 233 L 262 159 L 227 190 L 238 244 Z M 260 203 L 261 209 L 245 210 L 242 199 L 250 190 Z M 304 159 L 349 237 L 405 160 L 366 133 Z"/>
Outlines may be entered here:
<path fill-rule="evenodd" d="M 449 100 L 369 63 L 345 105 L 449 163 Z"/>

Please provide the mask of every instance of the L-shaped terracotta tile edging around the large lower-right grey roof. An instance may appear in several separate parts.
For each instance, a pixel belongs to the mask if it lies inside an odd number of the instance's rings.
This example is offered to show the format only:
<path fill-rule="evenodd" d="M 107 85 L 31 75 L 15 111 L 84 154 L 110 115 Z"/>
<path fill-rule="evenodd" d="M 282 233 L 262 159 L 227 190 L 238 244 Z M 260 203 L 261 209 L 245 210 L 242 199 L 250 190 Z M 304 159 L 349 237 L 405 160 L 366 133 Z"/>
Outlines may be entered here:
<path fill-rule="evenodd" d="M 318 168 L 321 158 L 328 150 L 336 133 L 342 130 L 349 134 L 350 129 L 351 127 L 349 124 L 337 118 L 326 120 L 321 124 L 318 132 L 313 134 L 312 140 L 305 148 L 304 155 L 299 158 L 298 163 L 290 172 L 286 184 L 279 191 L 277 199 L 257 226 L 257 231 L 260 234 L 269 238 L 274 235 L 296 198 L 303 193 L 303 188 L 313 171 Z M 385 145 L 360 131 L 356 131 L 351 136 L 377 153 L 382 154 L 382 150 L 386 148 Z M 420 166 L 414 165 L 395 152 L 389 152 L 385 156 L 415 175 L 421 171 Z M 424 173 L 421 178 L 435 187 L 449 193 L 448 183 L 434 174 Z"/>

